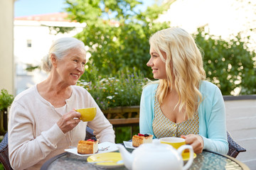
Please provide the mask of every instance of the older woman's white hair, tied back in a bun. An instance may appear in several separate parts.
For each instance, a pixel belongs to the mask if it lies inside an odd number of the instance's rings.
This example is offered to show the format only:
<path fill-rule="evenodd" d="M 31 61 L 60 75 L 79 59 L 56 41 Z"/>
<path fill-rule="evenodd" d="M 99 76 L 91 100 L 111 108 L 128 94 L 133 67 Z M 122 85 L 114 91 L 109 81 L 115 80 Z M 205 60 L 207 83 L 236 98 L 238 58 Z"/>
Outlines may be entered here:
<path fill-rule="evenodd" d="M 65 55 L 67 55 L 69 50 L 73 49 L 79 49 L 86 52 L 85 44 L 76 38 L 60 38 L 55 40 L 53 45 L 50 46 L 48 55 L 43 57 L 42 69 L 46 72 L 50 72 L 52 69 L 53 64 L 50 60 L 51 55 L 55 55 L 58 60 L 61 60 Z"/>

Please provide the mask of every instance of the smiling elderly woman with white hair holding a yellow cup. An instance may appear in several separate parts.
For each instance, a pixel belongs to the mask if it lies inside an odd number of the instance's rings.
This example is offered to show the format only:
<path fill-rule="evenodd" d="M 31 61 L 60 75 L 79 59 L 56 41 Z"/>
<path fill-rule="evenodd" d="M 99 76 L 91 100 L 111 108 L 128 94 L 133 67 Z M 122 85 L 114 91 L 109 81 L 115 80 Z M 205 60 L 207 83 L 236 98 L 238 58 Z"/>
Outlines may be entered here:
<path fill-rule="evenodd" d="M 18 94 L 9 118 L 9 158 L 14 169 L 40 169 L 47 159 L 85 140 L 88 125 L 100 142 L 114 142 L 114 130 L 92 96 L 75 86 L 85 72 L 85 45 L 75 38 L 53 42 L 43 59 L 48 78 Z M 75 108 L 96 107 L 95 119 L 80 121 Z"/>

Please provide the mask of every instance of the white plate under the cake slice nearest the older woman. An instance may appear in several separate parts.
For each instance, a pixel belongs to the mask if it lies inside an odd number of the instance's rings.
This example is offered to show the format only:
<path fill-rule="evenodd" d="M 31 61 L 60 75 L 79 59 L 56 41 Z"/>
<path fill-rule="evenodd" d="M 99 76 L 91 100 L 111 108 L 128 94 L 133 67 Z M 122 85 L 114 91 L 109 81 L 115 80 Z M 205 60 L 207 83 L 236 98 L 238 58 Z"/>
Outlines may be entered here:
<path fill-rule="evenodd" d="M 107 147 L 107 149 L 100 150 L 100 149 L 106 148 L 106 147 Z M 98 149 L 99 149 L 99 151 L 96 152 L 95 154 L 114 152 L 114 151 L 118 150 L 116 144 L 114 144 L 112 142 L 102 142 L 98 145 Z M 70 152 L 72 154 L 76 154 L 76 155 L 81 156 L 81 157 L 89 157 L 90 155 L 93 155 L 93 154 L 78 154 L 78 148 L 77 147 L 70 148 L 70 149 L 65 149 L 65 151 Z"/>

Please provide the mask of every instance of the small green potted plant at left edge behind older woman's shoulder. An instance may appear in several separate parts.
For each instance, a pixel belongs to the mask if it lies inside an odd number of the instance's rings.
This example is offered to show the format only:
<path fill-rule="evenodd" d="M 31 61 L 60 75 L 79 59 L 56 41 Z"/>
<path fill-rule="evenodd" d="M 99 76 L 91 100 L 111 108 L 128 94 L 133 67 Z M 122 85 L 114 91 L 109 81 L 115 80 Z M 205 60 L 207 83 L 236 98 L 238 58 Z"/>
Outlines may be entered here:
<path fill-rule="evenodd" d="M 0 94 L 0 133 L 3 134 L 7 130 L 7 113 L 8 108 L 14 101 L 14 96 L 8 94 L 6 89 L 1 89 Z"/>

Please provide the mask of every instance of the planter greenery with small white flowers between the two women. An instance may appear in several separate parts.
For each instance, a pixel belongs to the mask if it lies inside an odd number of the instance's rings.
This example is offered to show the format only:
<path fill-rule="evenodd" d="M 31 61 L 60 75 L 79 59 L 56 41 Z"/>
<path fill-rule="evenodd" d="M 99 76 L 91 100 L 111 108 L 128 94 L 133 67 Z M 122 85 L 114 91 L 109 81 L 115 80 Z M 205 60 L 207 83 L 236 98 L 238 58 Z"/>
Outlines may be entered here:
<path fill-rule="evenodd" d="M 87 80 L 87 81 L 85 81 Z M 92 67 L 78 81 L 90 92 L 101 109 L 118 106 L 138 106 L 142 87 L 148 80 L 137 69 L 120 70 L 116 74 L 99 74 L 99 69 Z"/>

